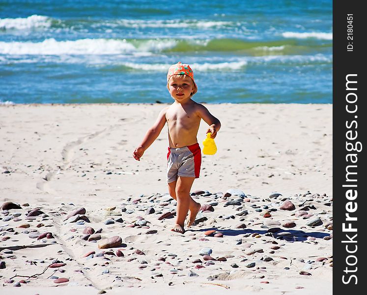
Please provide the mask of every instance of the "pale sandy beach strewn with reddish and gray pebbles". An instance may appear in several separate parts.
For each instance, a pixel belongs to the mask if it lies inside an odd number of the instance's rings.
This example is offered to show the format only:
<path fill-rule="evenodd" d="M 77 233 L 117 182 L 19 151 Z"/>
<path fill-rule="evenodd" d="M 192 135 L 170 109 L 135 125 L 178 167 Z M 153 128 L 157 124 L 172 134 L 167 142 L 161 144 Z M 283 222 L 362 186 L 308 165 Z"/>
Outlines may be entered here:
<path fill-rule="evenodd" d="M 185 234 L 167 127 L 132 157 L 164 106 L 0 105 L 4 292 L 332 294 L 332 105 L 205 104 L 222 128 Z"/>

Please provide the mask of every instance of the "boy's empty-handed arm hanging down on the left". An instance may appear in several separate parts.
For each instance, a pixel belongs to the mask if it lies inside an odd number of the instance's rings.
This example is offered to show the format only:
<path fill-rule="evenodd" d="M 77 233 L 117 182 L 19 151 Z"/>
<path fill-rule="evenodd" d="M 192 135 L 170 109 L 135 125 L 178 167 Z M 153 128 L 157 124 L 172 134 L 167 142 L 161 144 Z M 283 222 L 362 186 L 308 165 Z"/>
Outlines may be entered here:
<path fill-rule="evenodd" d="M 164 108 L 158 115 L 158 118 L 154 122 L 153 126 L 148 129 L 145 133 L 140 146 L 136 148 L 133 152 L 133 157 L 140 161 L 141 156 L 144 151 L 150 147 L 150 145 L 157 139 L 158 135 L 161 133 L 163 126 L 166 124 L 166 112 L 169 107 Z"/>

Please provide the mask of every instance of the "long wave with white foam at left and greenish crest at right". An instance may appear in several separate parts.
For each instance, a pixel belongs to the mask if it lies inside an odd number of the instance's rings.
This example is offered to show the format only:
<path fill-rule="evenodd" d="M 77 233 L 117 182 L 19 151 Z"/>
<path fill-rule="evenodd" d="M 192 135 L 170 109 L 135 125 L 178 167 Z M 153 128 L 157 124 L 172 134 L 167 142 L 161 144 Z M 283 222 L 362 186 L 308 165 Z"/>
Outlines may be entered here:
<path fill-rule="evenodd" d="M 293 41 L 249 42 L 240 39 L 78 39 L 42 42 L 1 42 L 0 54 L 8 55 L 151 55 L 176 52 L 280 51 Z M 284 45 L 285 44 L 285 45 Z M 250 51 L 249 51 L 250 52 Z"/>

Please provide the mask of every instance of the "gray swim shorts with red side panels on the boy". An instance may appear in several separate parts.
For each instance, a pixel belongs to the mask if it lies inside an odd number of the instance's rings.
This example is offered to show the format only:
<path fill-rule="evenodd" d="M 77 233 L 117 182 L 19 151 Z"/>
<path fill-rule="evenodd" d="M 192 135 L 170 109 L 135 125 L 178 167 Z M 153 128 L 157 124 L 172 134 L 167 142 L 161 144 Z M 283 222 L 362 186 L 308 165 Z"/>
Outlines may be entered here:
<path fill-rule="evenodd" d="M 201 149 L 198 143 L 182 147 L 168 148 L 167 182 L 176 181 L 178 176 L 198 178 L 201 166 Z"/>

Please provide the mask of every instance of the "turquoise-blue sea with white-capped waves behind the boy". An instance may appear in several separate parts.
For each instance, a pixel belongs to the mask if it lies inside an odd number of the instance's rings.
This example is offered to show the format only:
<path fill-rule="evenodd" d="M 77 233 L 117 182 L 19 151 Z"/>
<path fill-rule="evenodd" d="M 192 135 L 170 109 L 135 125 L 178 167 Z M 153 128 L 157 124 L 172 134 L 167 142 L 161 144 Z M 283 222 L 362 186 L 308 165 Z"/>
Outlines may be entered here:
<path fill-rule="evenodd" d="M 332 103 L 332 0 L 0 0 L 0 104 Z"/>

